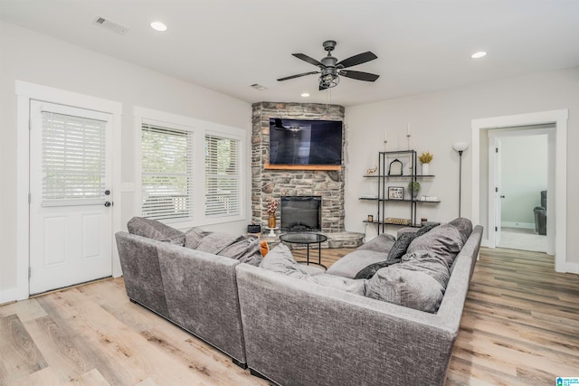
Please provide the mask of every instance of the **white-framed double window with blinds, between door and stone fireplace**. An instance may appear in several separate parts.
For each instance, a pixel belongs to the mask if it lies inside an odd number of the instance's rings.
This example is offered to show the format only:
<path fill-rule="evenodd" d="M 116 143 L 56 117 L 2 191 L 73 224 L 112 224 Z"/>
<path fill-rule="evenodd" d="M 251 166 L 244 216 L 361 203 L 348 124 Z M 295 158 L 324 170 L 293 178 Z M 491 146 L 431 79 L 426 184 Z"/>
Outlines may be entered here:
<path fill-rule="evenodd" d="M 240 128 L 135 108 L 141 216 L 177 229 L 244 220 Z"/>

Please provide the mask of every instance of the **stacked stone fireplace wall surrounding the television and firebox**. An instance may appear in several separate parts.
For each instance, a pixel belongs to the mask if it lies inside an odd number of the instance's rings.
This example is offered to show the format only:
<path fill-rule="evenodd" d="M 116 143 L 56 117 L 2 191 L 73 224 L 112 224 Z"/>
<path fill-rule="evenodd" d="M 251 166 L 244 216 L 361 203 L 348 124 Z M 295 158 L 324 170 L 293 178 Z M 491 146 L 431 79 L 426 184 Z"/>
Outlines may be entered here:
<path fill-rule="evenodd" d="M 344 120 L 345 108 L 317 103 L 259 102 L 252 105 L 252 222 L 267 227 L 267 203 L 286 195 L 322 196 L 322 232 L 344 231 L 344 145 L 339 171 L 272 170 L 270 118 Z M 276 212 L 278 226 L 280 209 Z"/>

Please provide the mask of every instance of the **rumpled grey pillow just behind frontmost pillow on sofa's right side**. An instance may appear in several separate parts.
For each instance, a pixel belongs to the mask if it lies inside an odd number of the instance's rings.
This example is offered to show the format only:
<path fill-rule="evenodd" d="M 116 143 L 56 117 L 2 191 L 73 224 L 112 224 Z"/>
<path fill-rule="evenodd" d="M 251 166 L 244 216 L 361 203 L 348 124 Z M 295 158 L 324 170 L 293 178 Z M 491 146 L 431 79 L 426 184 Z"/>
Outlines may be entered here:
<path fill-rule="evenodd" d="M 463 245 L 462 234 L 449 222 L 414 239 L 408 246 L 407 253 L 430 250 L 445 259 L 450 267 Z"/>

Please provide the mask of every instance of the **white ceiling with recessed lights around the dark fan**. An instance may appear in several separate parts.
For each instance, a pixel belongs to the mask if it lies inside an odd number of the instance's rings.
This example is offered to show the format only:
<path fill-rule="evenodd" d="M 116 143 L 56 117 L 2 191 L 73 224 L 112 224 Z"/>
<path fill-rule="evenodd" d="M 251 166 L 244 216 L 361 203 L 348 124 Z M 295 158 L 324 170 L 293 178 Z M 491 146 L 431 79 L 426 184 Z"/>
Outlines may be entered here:
<path fill-rule="evenodd" d="M 579 65 L 579 0 L 0 0 L 0 18 L 248 102 L 351 106 Z M 328 39 L 338 60 L 374 52 L 350 70 L 380 78 L 330 94 L 317 75 L 277 81 L 317 71 L 291 53 L 320 60 Z"/>

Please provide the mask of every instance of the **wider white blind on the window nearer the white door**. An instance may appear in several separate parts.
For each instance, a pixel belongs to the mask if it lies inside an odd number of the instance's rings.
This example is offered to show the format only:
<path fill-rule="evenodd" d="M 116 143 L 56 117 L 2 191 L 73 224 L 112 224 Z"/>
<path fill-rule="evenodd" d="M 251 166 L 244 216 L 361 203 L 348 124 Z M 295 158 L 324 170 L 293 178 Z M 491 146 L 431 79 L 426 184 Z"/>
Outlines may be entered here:
<path fill-rule="evenodd" d="M 141 138 L 143 217 L 193 220 L 193 133 L 143 124 Z"/>

